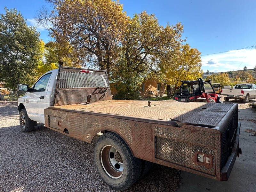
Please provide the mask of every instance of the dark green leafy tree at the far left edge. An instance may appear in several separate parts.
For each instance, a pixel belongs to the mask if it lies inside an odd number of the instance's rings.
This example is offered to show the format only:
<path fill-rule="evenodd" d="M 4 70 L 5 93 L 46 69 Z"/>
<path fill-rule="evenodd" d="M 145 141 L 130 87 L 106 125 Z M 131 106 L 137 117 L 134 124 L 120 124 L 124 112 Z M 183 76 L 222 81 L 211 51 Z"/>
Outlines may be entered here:
<path fill-rule="evenodd" d="M 31 84 L 31 76 L 40 56 L 39 33 L 28 27 L 16 9 L 4 8 L 0 19 L 0 77 L 5 87 L 15 90 L 17 84 Z"/>

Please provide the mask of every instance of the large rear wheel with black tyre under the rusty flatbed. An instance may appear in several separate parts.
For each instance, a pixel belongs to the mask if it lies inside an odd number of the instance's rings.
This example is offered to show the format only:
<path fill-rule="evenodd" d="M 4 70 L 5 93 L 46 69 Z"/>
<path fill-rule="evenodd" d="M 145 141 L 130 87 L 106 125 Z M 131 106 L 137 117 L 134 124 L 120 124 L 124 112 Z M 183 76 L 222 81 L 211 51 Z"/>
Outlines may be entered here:
<path fill-rule="evenodd" d="M 101 178 L 116 190 L 129 188 L 141 175 L 142 160 L 133 157 L 124 140 L 112 132 L 97 140 L 94 162 Z"/>

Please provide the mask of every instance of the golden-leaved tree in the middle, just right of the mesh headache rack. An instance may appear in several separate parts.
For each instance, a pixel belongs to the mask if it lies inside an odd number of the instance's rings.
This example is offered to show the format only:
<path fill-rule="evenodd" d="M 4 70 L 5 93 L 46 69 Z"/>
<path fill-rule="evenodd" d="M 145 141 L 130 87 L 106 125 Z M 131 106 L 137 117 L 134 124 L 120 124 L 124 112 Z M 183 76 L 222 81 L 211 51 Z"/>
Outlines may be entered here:
<path fill-rule="evenodd" d="M 165 28 L 159 26 L 157 18 L 145 11 L 130 19 L 120 59 L 110 68 L 111 80 L 123 98 L 138 99 L 140 84 L 157 73 L 159 59 L 165 56 L 166 50 L 180 45 L 182 29 L 180 23 Z"/>

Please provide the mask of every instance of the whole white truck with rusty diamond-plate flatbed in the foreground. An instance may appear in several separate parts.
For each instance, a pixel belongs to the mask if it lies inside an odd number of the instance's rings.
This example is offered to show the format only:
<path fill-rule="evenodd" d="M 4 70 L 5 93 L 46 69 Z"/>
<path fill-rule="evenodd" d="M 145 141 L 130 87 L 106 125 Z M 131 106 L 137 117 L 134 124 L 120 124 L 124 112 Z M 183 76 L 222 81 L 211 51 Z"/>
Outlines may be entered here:
<path fill-rule="evenodd" d="M 40 122 L 85 142 L 97 139 L 95 165 L 116 190 L 132 186 L 152 163 L 226 181 L 242 153 L 236 103 L 112 100 L 106 70 L 61 65 L 18 90 L 26 92 L 18 100 L 21 131 Z"/>

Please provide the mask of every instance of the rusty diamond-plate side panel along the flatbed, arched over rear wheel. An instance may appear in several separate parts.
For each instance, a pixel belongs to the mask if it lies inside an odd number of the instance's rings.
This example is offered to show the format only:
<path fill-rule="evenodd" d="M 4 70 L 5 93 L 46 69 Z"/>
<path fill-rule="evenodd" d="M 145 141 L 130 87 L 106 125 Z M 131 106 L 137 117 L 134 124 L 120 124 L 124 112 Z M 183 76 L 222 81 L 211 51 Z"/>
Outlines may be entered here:
<path fill-rule="evenodd" d="M 191 125 L 173 127 L 115 118 L 115 115 L 106 117 L 104 114 L 98 116 L 66 112 L 63 109 L 45 109 L 44 113 L 45 119 L 49 115 L 60 117 L 62 130 L 54 130 L 63 133 L 67 128 L 70 137 L 91 142 L 96 133 L 102 130 L 116 132 L 124 139 L 135 157 L 213 179 L 220 178 L 218 130 Z M 46 121 L 45 126 L 49 127 Z M 213 167 L 196 165 L 192 157 L 194 152 L 211 154 Z"/>

